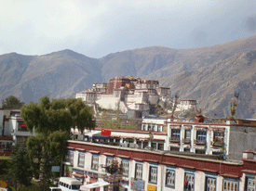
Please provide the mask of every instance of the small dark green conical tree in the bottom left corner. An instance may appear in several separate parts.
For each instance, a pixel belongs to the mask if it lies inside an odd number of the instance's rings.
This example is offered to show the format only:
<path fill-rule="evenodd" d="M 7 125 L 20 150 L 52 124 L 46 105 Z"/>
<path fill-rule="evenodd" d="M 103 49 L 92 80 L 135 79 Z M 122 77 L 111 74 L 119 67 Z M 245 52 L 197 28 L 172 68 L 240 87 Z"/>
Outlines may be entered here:
<path fill-rule="evenodd" d="M 25 144 L 14 147 L 8 163 L 8 177 L 15 183 L 16 189 L 19 185 L 30 185 L 32 172 Z"/>

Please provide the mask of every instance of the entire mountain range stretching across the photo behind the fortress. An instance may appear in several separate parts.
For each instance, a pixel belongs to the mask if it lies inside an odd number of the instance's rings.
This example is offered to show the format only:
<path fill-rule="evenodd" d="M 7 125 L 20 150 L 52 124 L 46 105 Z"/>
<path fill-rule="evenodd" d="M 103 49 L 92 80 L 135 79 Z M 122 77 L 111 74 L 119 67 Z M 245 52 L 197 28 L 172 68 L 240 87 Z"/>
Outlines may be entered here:
<path fill-rule="evenodd" d="M 191 49 L 153 46 L 109 54 L 100 59 L 71 50 L 43 56 L 10 53 L 0 56 L 0 98 L 18 96 L 37 102 L 39 97 L 74 96 L 92 83 L 115 76 L 159 80 L 180 98 L 196 99 L 204 114 L 229 115 L 229 102 L 239 92 L 236 116 L 256 117 L 256 36 L 227 44 Z"/>

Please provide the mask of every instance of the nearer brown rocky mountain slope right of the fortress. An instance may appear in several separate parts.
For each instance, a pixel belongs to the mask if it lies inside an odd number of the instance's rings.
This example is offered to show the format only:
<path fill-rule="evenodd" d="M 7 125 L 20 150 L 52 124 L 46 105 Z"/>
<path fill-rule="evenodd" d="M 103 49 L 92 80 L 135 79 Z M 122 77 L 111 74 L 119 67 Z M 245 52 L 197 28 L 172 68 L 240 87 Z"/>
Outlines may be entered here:
<path fill-rule="evenodd" d="M 160 80 L 182 98 L 197 99 L 198 107 L 213 117 L 228 117 L 234 92 L 239 93 L 236 118 L 256 118 L 256 51 Z"/>

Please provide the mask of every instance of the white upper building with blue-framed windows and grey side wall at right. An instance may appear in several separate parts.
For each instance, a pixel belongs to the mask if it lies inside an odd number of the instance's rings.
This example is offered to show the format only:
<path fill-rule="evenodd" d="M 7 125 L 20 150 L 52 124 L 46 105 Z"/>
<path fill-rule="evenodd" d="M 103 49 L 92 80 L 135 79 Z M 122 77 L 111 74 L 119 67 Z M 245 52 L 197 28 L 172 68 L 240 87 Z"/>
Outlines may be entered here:
<path fill-rule="evenodd" d="M 202 117 L 202 116 L 201 116 Z M 227 119 L 225 123 L 184 122 L 168 119 L 168 150 L 242 159 L 256 148 L 255 121 Z"/>

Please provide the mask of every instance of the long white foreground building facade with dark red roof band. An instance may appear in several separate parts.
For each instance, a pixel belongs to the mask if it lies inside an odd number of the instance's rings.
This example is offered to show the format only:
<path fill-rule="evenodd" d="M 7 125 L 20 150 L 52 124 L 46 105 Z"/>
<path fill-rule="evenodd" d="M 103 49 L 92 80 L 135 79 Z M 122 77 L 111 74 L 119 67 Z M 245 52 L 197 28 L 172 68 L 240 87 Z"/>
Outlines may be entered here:
<path fill-rule="evenodd" d="M 255 190 L 256 153 L 252 151 L 231 162 L 82 141 L 68 141 L 67 149 L 65 175 L 85 185 L 103 181 L 105 167 L 116 159 L 122 164 L 121 190 Z"/>

